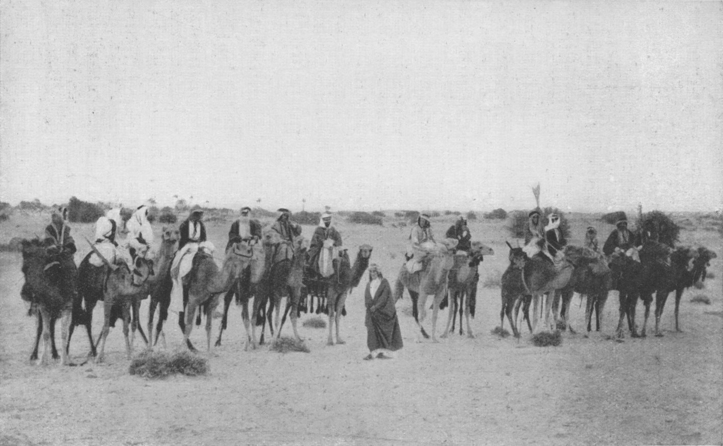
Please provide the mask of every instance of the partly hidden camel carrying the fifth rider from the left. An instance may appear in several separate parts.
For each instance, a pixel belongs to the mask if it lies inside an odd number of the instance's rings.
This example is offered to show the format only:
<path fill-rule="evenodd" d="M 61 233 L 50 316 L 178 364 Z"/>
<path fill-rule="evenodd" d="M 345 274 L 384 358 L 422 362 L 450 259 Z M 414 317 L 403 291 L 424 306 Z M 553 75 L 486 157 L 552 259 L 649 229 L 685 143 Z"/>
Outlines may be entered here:
<path fill-rule="evenodd" d="M 228 307 L 231 305 L 231 300 L 234 299 L 234 295 L 236 295 L 236 305 L 241 305 L 241 320 L 243 320 L 244 328 L 246 329 L 247 341 L 244 345 L 244 350 L 247 350 L 249 345 L 251 345 L 253 349 L 256 348 L 256 345 L 252 342 L 251 338 L 252 328 L 251 321 L 249 320 L 249 299 L 252 295 L 255 296 L 260 294 L 258 292 L 258 287 L 264 277 L 266 255 L 261 243 L 253 242 L 251 247 L 252 256 L 249 261 L 249 266 L 247 266 L 247 268 L 245 268 L 241 273 L 241 277 L 234 281 L 234 285 L 228 290 L 228 292 L 226 292 L 223 299 L 223 318 L 221 319 L 221 325 L 218 329 L 218 338 L 215 343 L 215 346 L 217 347 L 221 346 L 221 335 L 226 329 L 226 324 L 228 322 Z M 254 300 L 255 299 L 256 297 L 254 297 Z M 256 320 L 254 320 L 254 325 L 256 325 Z"/>

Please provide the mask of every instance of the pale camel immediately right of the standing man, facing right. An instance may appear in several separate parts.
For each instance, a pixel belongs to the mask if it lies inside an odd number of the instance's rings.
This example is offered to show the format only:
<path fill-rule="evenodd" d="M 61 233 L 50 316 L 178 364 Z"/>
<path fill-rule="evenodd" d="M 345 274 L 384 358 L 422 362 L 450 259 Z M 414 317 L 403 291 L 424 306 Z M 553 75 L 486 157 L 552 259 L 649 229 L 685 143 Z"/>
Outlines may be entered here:
<path fill-rule="evenodd" d="M 435 248 L 424 255 L 424 268 L 422 271 L 410 274 L 406 266 L 403 265 L 395 282 L 395 299 L 401 299 L 405 288 L 409 292 L 412 300 L 412 314 L 424 338 L 429 338 L 422 326 L 426 315 L 427 296 L 429 294 L 435 295 L 432 303 L 432 342 L 439 342 L 435 333 L 437 312 L 440 310 L 442 299 L 447 295 L 448 274 L 454 266 L 452 250 L 456 245 L 457 240 L 453 239 L 445 239 L 443 242 L 436 243 Z M 419 338 L 418 334 L 417 342 L 421 341 L 422 339 Z"/>

